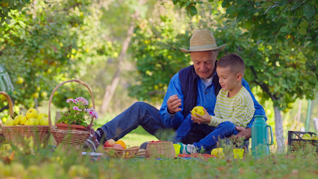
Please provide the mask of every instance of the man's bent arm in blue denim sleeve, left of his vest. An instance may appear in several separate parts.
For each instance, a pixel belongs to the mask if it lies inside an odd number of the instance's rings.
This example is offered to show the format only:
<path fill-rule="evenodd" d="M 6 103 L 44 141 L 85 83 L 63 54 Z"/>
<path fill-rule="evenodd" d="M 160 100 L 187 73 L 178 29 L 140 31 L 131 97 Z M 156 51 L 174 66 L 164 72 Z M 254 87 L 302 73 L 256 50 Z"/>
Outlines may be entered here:
<path fill-rule="evenodd" d="M 180 102 L 175 102 L 176 104 L 172 104 L 170 106 L 171 111 L 168 110 L 168 100 L 169 104 L 171 104 L 171 101 L 174 101 L 174 95 L 176 95 L 177 100 L 181 100 Z M 173 99 L 172 99 L 173 98 Z M 181 104 L 179 104 L 181 103 Z M 178 107 L 172 107 L 172 106 L 178 106 Z M 173 110 L 175 109 L 175 110 Z M 177 110 L 179 109 L 179 110 Z M 163 102 L 161 105 L 161 108 L 159 110 L 159 114 L 161 117 L 162 124 L 166 128 L 177 128 L 181 125 L 183 122 L 183 94 L 182 94 L 182 89 L 181 89 L 181 83 L 179 80 L 179 73 L 174 75 L 169 83 L 167 92 L 165 97 L 163 98 Z"/>

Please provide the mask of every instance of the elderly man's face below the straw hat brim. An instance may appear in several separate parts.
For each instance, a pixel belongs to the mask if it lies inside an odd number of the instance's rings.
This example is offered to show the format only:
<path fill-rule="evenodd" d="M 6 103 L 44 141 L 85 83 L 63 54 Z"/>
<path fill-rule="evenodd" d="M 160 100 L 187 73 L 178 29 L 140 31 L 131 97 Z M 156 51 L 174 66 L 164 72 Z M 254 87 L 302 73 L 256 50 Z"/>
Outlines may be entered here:
<path fill-rule="evenodd" d="M 213 76 L 212 71 L 218 57 L 218 52 L 212 50 L 191 52 L 190 56 L 197 75 L 203 79 L 208 79 Z"/>

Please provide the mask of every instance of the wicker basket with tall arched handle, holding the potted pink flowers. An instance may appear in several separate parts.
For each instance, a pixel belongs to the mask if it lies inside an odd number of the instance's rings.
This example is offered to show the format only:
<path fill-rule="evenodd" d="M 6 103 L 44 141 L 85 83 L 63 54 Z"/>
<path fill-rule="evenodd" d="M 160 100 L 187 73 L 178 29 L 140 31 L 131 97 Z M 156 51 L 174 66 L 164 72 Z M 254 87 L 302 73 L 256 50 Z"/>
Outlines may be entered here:
<path fill-rule="evenodd" d="M 60 130 L 60 129 L 56 129 L 54 128 L 54 126 L 52 125 L 52 120 L 51 120 L 51 103 L 52 103 L 52 97 L 55 93 L 55 91 L 62 86 L 65 83 L 68 82 L 78 82 L 80 84 L 83 84 L 89 91 L 89 93 L 91 94 L 92 100 L 93 100 L 93 108 L 95 109 L 95 102 L 94 102 L 94 96 L 93 93 L 91 91 L 91 89 L 84 83 L 81 82 L 79 80 L 68 80 L 65 82 L 60 83 L 59 85 L 57 85 L 53 91 L 52 94 L 50 96 L 50 100 L 49 100 L 49 125 L 50 125 L 50 129 L 51 129 L 51 133 L 57 143 L 57 146 L 61 145 L 61 148 L 63 150 L 66 151 L 67 154 L 74 154 L 76 153 L 78 156 L 82 156 L 82 151 L 83 151 L 83 144 L 86 141 L 86 139 L 88 138 L 88 136 L 90 135 L 90 131 L 86 130 L 86 131 L 75 131 L 75 130 Z M 93 124 L 93 118 L 91 120 L 91 123 Z M 75 152 L 74 152 L 75 151 Z"/>

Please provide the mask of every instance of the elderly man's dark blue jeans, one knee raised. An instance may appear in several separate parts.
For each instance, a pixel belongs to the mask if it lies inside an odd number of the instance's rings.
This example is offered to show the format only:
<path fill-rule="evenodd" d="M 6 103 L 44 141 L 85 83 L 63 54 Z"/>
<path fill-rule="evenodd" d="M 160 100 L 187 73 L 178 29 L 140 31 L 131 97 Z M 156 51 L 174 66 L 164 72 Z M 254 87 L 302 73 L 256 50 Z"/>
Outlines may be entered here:
<path fill-rule="evenodd" d="M 136 102 L 128 109 L 123 111 L 121 114 L 116 116 L 114 119 L 97 129 L 102 130 L 105 136 L 105 140 L 100 141 L 100 143 L 103 144 L 106 140 L 109 139 L 114 139 L 115 141 L 120 140 L 126 134 L 136 129 L 139 125 L 141 125 L 142 128 L 145 129 L 145 131 L 155 136 L 157 139 L 167 140 L 167 138 L 160 138 L 161 136 L 157 133 L 158 130 L 167 129 L 161 122 L 159 110 L 150 104 L 144 102 Z M 171 129 L 176 130 L 179 126 L 172 126 Z M 182 143 L 199 143 L 200 140 L 204 139 L 213 131 L 212 129 L 214 130 L 214 128 L 211 126 L 203 124 L 198 125 L 197 123 L 195 123 L 194 128 L 182 140 Z M 208 153 L 210 151 L 211 153 L 211 150 L 216 147 L 217 146 L 214 145 L 206 152 Z"/>

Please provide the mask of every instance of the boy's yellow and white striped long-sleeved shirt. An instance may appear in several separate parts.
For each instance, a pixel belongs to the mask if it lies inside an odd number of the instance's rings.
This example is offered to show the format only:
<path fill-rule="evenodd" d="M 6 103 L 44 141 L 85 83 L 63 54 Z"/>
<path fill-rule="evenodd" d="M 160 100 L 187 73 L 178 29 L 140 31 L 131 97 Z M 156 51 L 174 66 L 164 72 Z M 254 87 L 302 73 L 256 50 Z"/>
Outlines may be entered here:
<path fill-rule="evenodd" d="M 246 127 L 254 116 L 254 102 L 244 86 L 233 97 L 227 97 L 229 91 L 219 91 L 211 116 L 210 126 L 218 127 L 224 121 L 230 121 L 236 126 Z"/>

